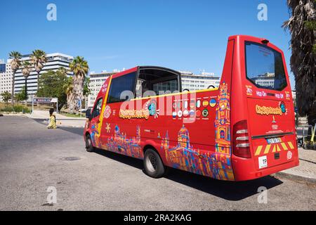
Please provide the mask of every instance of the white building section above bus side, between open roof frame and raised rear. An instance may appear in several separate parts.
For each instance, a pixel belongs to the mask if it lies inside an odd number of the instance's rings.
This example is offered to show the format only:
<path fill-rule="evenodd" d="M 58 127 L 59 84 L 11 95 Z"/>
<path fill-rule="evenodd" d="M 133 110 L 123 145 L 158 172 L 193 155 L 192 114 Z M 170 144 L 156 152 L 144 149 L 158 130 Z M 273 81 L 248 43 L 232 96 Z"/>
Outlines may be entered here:
<path fill-rule="evenodd" d="M 194 75 L 190 71 L 179 71 L 181 73 L 182 89 L 198 91 L 203 89 L 217 88 L 220 84 L 220 77 L 213 73 L 202 72 Z"/>

